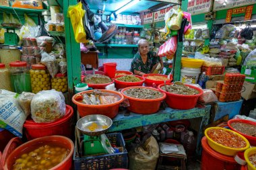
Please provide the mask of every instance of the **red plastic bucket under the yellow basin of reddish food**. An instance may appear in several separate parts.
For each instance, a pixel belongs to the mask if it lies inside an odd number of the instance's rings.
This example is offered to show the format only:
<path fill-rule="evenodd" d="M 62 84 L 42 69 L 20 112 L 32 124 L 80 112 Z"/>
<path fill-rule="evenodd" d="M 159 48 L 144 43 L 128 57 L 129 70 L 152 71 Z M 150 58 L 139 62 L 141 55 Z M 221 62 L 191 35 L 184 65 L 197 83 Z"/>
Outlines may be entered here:
<path fill-rule="evenodd" d="M 203 146 L 202 159 L 201 159 L 201 170 L 240 170 L 241 165 L 236 163 L 234 157 L 229 157 L 217 153 L 207 143 L 207 138 L 204 136 L 201 140 Z"/>

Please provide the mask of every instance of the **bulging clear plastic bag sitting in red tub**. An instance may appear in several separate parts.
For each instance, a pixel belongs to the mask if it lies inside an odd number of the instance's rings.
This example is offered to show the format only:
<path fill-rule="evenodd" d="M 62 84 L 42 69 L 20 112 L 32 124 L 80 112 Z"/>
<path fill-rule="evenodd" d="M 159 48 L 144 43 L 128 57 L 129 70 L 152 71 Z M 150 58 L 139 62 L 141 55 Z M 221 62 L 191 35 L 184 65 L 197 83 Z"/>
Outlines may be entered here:
<path fill-rule="evenodd" d="M 34 122 L 54 122 L 65 115 L 65 97 L 54 89 L 40 91 L 31 101 L 31 115 Z"/>

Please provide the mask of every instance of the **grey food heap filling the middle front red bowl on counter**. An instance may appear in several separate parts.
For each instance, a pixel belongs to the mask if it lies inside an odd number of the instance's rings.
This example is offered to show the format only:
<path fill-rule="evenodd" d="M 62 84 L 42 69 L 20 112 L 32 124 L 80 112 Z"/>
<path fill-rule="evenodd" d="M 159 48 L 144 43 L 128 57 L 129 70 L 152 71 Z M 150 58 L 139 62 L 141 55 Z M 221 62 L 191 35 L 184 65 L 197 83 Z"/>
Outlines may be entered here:
<path fill-rule="evenodd" d="M 128 95 L 130 97 L 135 97 L 138 99 L 157 99 L 162 97 L 162 93 L 160 93 L 159 91 L 146 89 L 146 88 L 127 89 L 123 93 L 125 93 L 125 95 Z"/>

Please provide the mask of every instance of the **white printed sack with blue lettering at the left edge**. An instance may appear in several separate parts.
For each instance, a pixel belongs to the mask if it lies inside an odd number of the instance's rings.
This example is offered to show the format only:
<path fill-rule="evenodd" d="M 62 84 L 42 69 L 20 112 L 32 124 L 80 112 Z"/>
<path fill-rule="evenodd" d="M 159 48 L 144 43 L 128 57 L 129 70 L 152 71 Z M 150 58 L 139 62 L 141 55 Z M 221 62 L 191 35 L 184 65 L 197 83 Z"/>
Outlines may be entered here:
<path fill-rule="evenodd" d="M 22 128 L 26 120 L 22 108 L 16 99 L 17 93 L 0 90 L 0 128 L 22 138 Z"/>

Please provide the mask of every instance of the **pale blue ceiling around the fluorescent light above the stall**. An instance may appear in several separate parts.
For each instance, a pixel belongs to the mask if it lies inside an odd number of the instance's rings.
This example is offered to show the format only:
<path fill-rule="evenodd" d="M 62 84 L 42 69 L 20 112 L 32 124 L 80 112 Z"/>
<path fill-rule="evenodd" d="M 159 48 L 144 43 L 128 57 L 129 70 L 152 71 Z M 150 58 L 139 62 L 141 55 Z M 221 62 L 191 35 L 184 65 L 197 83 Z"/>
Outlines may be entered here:
<path fill-rule="evenodd" d="M 116 11 L 120 7 L 123 7 L 125 4 L 129 3 L 131 0 L 87 0 L 90 6 L 90 9 L 103 9 L 103 4 L 105 1 L 106 7 L 105 11 Z M 145 11 L 150 7 L 154 7 L 155 5 L 168 5 L 170 3 L 162 3 L 157 1 L 148 1 L 148 0 L 141 0 L 133 7 L 126 9 L 123 13 L 139 13 L 140 11 Z"/>

